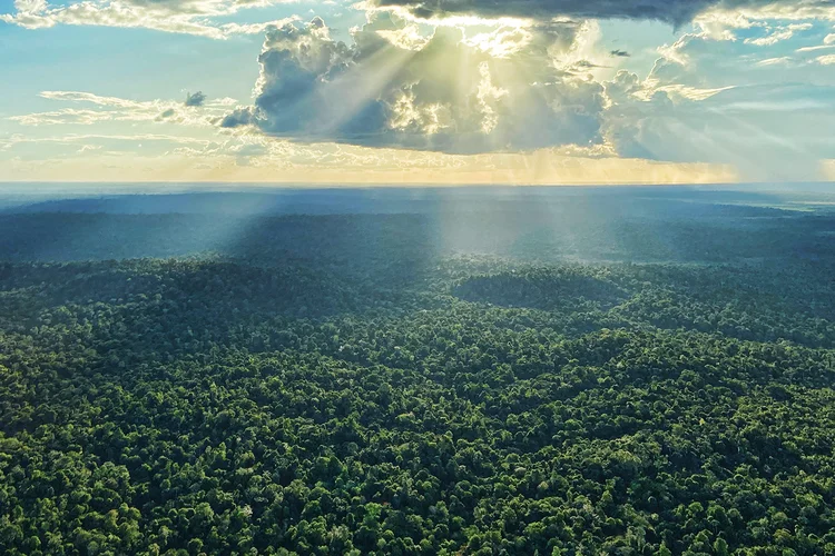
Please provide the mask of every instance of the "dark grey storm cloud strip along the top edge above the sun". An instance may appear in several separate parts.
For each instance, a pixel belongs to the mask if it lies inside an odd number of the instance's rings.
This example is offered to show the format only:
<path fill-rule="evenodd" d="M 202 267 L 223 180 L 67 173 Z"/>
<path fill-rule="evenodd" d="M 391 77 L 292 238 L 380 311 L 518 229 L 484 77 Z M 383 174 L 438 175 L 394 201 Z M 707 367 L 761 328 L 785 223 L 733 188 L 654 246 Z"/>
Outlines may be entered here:
<path fill-rule="evenodd" d="M 805 10 L 835 7 L 835 0 L 371 0 L 381 8 L 405 8 L 418 18 L 480 16 L 548 19 L 560 16 L 591 19 L 690 21 L 711 8 L 758 9 L 796 4 Z"/>

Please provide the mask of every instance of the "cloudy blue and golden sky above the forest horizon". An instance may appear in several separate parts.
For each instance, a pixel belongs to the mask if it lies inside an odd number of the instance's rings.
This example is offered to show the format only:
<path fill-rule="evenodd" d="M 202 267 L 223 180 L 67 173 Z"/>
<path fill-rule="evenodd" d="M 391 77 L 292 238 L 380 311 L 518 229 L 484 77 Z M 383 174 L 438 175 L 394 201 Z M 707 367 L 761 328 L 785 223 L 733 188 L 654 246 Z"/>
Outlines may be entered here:
<path fill-rule="evenodd" d="M 0 181 L 835 180 L 835 0 L 0 0 Z"/>

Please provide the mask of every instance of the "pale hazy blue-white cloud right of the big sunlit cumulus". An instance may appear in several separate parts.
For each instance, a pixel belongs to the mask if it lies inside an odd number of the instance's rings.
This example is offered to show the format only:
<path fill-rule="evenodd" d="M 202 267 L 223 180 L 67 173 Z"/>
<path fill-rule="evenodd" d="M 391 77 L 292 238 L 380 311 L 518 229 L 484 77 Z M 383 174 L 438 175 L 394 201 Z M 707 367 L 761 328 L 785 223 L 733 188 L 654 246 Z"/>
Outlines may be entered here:
<path fill-rule="evenodd" d="M 797 47 L 819 41 L 824 26 L 748 23 L 737 27 L 739 36 L 696 26 L 658 48 L 646 78 L 620 71 L 605 82 L 610 105 L 601 129 L 612 152 L 731 165 L 747 180 L 819 179 L 818 160 L 835 158 L 828 132 L 835 79 L 821 70 L 818 48 Z M 809 32 L 762 44 L 744 40 L 787 28 Z"/>

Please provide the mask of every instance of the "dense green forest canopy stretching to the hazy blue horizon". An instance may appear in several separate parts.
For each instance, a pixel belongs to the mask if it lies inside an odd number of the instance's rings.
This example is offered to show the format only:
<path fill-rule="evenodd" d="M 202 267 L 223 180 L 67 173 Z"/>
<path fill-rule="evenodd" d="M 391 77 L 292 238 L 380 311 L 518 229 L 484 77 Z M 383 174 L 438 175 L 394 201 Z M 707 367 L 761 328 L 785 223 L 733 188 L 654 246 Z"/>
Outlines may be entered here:
<path fill-rule="evenodd" d="M 9 209 L 0 553 L 835 554 L 835 215 L 704 195 Z"/>

